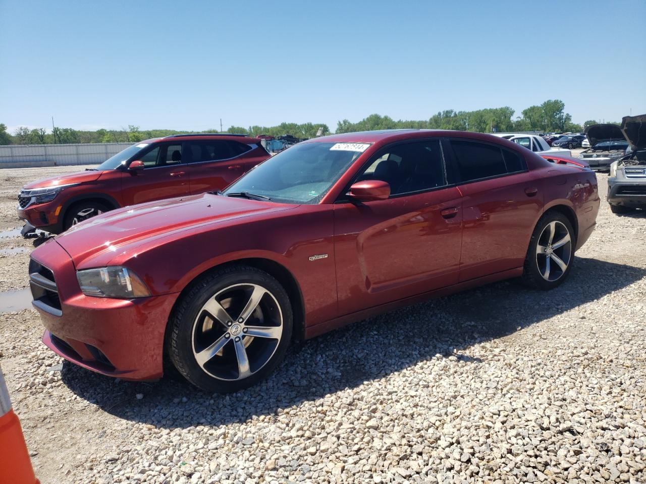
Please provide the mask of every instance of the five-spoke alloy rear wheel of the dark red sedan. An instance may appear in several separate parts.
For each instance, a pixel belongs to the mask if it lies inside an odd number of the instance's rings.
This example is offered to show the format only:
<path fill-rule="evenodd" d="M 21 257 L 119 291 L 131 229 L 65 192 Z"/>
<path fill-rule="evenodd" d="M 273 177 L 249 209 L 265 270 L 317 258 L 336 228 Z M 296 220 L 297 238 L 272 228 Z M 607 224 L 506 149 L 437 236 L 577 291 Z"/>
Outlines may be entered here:
<path fill-rule="evenodd" d="M 572 237 L 565 224 L 551 221 L 543 228 L 536 245 L 536 265 L 546 281 L 560 279 L 570 265 Z"/>

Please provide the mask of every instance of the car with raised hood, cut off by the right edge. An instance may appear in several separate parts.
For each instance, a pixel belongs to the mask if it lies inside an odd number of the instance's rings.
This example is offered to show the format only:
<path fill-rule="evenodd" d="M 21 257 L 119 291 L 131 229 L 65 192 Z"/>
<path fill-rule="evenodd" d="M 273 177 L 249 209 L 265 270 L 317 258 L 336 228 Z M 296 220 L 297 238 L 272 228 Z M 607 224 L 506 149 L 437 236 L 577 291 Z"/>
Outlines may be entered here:
<path fill-rule="evenodd" d="M 610 164 L 607 200 L 613 214 L 646 208 L 646 114 L 624 117 L 621 132 L 630 152 Z"/>

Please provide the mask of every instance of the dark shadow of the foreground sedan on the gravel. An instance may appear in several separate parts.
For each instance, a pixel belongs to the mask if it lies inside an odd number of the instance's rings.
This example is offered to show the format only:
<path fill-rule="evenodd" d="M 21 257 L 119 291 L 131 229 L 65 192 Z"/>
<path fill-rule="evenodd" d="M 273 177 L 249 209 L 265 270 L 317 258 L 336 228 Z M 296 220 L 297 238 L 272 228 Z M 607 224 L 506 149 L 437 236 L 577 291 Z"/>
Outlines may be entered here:
<path fill-rule="evenodd" d="M 577 257 L 568 281 L 556 290 L 505 281 L 366 319 L 293 345 L 267 381 L 224 396 L 200 392 L 172 371 L 160 381 L 136 383 L 66 361 L 62 378 L 80 398 L 129 421 L 168 429 L 242 422 L 384 378 L 438 354 L 486 365 L 486 359 L 468 356 L 472 345 L 576 309 L 645 276 L 643 268 Z"/>

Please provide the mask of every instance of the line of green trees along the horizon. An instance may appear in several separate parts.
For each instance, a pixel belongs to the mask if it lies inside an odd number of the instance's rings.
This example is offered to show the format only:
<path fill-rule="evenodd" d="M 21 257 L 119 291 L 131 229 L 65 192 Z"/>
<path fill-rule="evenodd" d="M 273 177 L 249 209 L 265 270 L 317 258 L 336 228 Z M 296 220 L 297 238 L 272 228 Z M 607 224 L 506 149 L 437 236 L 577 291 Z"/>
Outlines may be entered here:
<path fill-rule="evenodd" d="M 475 111 L 444 110 L 433 114 L 429 119 L 411 121 L 395 119 L 390 116 L 371 114 L 370 116 L 351 123 L 343 119 L 337 123 L 337 133 L 353 131 L 419 128 L 446 129 L 459 131 L 477 131 L 481 133 L 508 131 L 540 131 L 540 132 L 581 132 L 583 128 L 596 124 L 589 120 L 583 126 L 572 122 L 572 116 L 565 112 L 565 103 L 560 99 L 549 99 L 541 105 L 529 106 L 514 118 L 514 110 L 509 106 L 487 108 Z M 231 126 L 227 133 L 247 134 L 258 136 L 268 134 L 281 136 L 291 134 L 297 138 L 317 136 L 318 130 L 323 135 L 329 134 L 328 125 L 322 123 L 281 123 L 277 126 Z M 216 129 L 203 131 L 218 133 Z M 194 131 L 176 130 L 140 130 L 139 126 L 129 125 L 121 130 L 99 129 L 96 131 L 74 130 L 72 128 L 54 128 L 48 133 L 44 128 L 30 130 L 21 126 L 14 133 L 8 133 L 6 126 L 0 123 L 0 145 L 43 145 L 46 143 L 136 143 L 143 139 L 169 136 L 171 134 L 190 134 Z"/>

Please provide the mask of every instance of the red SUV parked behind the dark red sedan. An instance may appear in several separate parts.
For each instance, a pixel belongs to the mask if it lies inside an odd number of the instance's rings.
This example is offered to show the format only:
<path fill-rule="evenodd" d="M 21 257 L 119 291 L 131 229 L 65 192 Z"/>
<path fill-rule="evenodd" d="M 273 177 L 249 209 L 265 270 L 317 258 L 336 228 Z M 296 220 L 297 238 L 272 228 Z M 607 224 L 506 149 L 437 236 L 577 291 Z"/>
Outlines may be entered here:
<path fill-rule="evenodd" d="M 114 208 L 220 190 L 268 157 L 259 139 L 243 135 L 147 139 L 96 168 L 25 185 L 17 207 L 22 233 L 59 234 Z"/>

